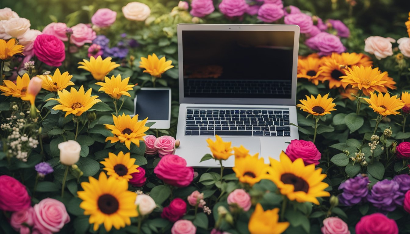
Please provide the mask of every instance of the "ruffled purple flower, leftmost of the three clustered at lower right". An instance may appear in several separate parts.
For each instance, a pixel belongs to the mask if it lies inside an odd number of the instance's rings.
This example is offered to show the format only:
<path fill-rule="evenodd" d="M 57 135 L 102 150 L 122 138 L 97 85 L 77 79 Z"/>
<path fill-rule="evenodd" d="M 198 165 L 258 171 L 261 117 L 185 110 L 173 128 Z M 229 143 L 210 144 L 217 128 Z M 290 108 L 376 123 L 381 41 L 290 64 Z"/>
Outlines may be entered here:
<path fill-rule="evenodd" d="M 362 175 L 347 179 L 339 186 L 339 189 L 343 189 L 343 193 L 339 195 L 339 202 L 346 206 L 358 204 L 369 193 L 367 188 L 369 183 L 369 178 Z"/>

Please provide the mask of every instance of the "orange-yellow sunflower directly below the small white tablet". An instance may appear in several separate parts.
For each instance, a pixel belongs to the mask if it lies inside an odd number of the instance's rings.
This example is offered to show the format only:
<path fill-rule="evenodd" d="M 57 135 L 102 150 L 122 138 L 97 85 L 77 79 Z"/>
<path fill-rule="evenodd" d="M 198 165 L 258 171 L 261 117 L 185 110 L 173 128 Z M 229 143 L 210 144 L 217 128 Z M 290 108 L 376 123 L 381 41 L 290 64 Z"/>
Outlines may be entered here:
<path fill-rule="evenodd" d="M 150 128 L 145 126 L 148 118 L 138 122 L 138 115 L 131 118 L 124 113 L 118 117 L 112 115 L 112 118 L 114 125 L 105 124 L 105 127 L 110 129 L 114 136 L 107 137 L 105 141 L 111 141 L 111 143 L 117 141 L 121 143 L 125 142 L 125 146 L 128 150 L 130 150 L 131 142 L 139 147 L 139 141 L 144 141 L 143 136 L 146 135 L 144 132 Z"/>

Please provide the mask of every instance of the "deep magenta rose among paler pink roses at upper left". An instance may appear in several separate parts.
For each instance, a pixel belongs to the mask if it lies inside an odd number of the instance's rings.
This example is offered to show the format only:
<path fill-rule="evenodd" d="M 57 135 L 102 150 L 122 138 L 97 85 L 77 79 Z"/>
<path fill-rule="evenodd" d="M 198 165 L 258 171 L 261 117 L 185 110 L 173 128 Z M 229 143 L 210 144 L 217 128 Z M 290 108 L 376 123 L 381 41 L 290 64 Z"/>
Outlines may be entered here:
<path fill-rule="evenodd" d="M 41 34 L 36 37 L 33 52 L 37 58 L 48 66 L 59 67 L 66 59 L 64 42 L 56 36 Z"/>

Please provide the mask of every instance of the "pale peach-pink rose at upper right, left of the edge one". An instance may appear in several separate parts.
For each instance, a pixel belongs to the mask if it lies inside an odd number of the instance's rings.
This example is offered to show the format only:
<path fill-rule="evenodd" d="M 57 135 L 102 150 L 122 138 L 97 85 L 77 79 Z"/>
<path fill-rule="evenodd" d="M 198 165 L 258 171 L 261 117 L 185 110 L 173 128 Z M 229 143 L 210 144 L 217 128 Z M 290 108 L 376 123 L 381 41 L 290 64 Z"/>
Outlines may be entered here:
<path fill-rule="evenodd" d="M 369 36 L 364 41 L 364 51 L 376 56 L 378 60 L 384 59 L 387 56 L 393 55 L 392 42 L 396 42 L 396 40 L 390 37 Z"/>

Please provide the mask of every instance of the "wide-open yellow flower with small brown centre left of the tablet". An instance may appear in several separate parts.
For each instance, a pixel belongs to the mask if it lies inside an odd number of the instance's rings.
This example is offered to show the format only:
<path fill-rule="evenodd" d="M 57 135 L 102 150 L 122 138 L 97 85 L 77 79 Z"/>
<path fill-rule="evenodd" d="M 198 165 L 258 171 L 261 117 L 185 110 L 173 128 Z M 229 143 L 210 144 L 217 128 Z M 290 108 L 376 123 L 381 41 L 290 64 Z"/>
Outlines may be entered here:
<path fill-rule="evenodd" d="M 69 114 L 80 116 L 82 113 L 93 107 L 97 102 L 101 102 L 100 99 L 97 99 L 97 95 L 91 96 L 91 90 L 92 89 L 89 89 L 84 93 L 83 86 L 81 86 L 78 91 L 71 87 L 70 92 L 66 89 L 63 89 L 63 91 L 57 91 L 59 98 L 49 98 L 46 101 L 56 100 L 59 102 L 60 104 L 55 105 L 52 109 L 65 111 L 66 115 L 64 117 Z"/>

